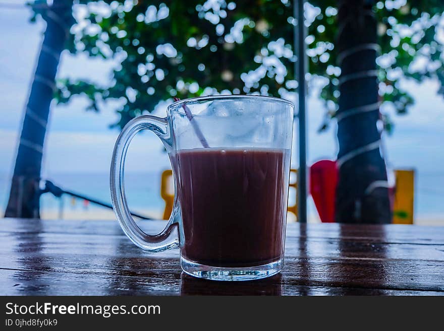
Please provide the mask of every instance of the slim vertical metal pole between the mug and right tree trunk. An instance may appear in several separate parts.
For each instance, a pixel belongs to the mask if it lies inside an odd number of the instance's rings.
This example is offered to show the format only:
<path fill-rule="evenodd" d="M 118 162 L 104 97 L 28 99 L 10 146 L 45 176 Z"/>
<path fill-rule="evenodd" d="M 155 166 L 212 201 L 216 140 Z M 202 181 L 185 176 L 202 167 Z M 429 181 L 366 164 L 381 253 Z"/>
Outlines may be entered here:
<path fill-rule="evenodd" d="M 299 82 L 299 171 L 298 171 L 298 221 L 307 223 L 307 133 L 306 133 L 306 57 L 305 57 L 305 35 L 304 25 L 304 3 L 305 0 L 297 0 L 294 3 L 294 16 L 297 18 L 297 25 L 294 29 L 294 48 L 298 49 L 298 60 L 295 63 L 295 73 Z"/>

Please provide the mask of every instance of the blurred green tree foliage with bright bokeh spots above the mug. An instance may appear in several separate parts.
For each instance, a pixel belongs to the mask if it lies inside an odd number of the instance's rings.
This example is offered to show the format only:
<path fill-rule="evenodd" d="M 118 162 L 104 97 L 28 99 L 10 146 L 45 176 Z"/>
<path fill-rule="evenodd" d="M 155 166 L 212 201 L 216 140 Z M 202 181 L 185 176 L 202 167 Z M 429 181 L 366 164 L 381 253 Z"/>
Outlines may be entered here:
<path fill-rule="evenodd" d="M 337 6 L 335 0 L 311 0 L 305 7 L 307 79 L 323 85 L 322 128 L 338 107 Z M 436 78 L 444 94 L 443 7 L 441 0 L 374 3 L 380 101 L 398 113 L 414 102 L 400 85 L 403 78 Z M 173 97 L 258 93 L 292 98 L 297 91 L 292 46 L 297 20 L 289 1 L 78 0 L 74 13 L 69 51 L 118 64 L 109 86 L 98 86 L 93 78 L 59 81 L 57 100 L 66 103 L 73 95 L 86 95 L 89 108 L 99 111 L 102 101 L 119 99 L 116 126 Z"/>

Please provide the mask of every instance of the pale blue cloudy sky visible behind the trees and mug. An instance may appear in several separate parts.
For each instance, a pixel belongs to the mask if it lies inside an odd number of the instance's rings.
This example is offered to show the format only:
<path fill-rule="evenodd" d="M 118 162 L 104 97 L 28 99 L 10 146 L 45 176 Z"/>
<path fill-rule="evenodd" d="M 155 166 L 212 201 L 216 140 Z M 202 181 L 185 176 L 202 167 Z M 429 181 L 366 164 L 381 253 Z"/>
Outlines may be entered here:
<path fill-rule="evenodd" d="M 3 31 L 0 34 L 0 173 L 8 175 L 12 174 L 23 109 L 45 28 L 42 20 L 30 24 L 29 16 L 27 9 L 0 8 L 0 29 Z M 106 83 L 114 64 L 83 54 L 74 57 L 64 51 L 58 78 L 94 77 L 96 82 Z M 403 84 L 416 104 L 407 115 L 392 116 L 396 126 L 393 135 L 384 138 L 385 156 L 391 168 L 418 171 L 417 187 L 423 194 L 420 196 L 422 205 L 429 206 L 425 204 L 429 198 L 436 202 L 439 197 L 444 198 L 444 100 L 436 95 L 436 81 L 421 84 L 404 81 Z M 310 92 L 307 105 L 309 164 L 323 158 L 335 159 L 337 153 L 336 123 L 323 133 L 317 133 L 324 109 L 316 94 L 317 91 Z M 118 131 L 109 129 L 108 125 L 117 120 L 117 114 L 112 106 L 101 113 L 93 113 L 85 111 L 85 105 L 81 97 L 68 105 L 52 105 L 43 176 L 59 172 L 108 172 L 118 135 Z M 164 111 L 164 107 L 160 107 L 156 114 L 163 116 Z M 294 159 L 293 163 L 296 162 Z M 127 172 L 160 171 L 168 167 L 168 158 L 153 134 L 138 135 L 134 139 L 128 152 Z M 426 207 L 421 208 L 425 211 Z M 436 206 L 433 208 L 439 212 Z"/>

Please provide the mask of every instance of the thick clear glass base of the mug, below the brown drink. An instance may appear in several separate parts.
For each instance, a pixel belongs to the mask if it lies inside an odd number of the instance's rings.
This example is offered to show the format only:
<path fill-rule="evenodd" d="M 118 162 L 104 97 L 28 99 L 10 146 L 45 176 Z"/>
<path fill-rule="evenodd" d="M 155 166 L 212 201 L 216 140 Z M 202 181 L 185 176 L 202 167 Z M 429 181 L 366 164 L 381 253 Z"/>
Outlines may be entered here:
<path fill-rule="evenodd" d="M 205 266 L 181 256 L 181 267 L 186 274 L 212 281 L 252 281 L 267 278 L 281 272 L 283 266 L 284 258 L 262 266 L 230 268 Z"/>

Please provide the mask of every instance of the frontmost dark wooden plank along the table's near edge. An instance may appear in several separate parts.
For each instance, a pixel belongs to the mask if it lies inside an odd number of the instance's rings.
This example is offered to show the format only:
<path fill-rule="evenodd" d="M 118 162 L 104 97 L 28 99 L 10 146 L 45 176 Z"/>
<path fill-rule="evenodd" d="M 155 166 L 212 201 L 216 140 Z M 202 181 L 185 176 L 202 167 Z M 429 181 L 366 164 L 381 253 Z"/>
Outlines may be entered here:
<path fill-rule="evenodd" d="M 306 286 L 287 284 L 276 275 L 254 282 L 212 282 L 184 273 L 173 279 L 95 277 L 0 269 L 2 295 L 444 295 L 444 292 Z M 277 277 L 277 278 L 276 278 Z"/>

